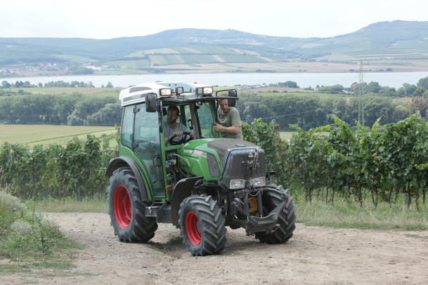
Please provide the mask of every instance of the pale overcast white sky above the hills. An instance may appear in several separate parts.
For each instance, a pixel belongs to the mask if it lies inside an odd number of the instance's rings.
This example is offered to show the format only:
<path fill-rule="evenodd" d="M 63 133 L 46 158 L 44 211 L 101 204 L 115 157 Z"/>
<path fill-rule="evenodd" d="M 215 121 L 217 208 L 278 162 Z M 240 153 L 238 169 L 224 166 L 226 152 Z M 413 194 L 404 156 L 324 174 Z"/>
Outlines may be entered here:
<path fill-rule="evenodd" d="M 113 39 L 168 29 L 335 37 L 375 22 L 428 21 L 424 0 L 0 0 L 0 37 Z"/>

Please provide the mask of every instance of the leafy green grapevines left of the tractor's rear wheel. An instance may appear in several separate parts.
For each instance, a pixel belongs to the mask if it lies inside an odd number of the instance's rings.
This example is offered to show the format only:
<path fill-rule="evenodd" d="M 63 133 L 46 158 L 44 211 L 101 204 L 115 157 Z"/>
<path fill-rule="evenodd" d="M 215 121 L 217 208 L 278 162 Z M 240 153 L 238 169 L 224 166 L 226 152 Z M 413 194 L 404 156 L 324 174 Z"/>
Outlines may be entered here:
<path fill-rule="evenodd" d="M 108 161 L 117 154 L 110 149 L 108 137 L 98 140 L 87 135 L 86 141 L 70 140 L 60 145 L 9 145 L 0 148 L 0 183 L 20 199 L 63 199 L 104 197 L 108 179 L 104 172 Z"/>

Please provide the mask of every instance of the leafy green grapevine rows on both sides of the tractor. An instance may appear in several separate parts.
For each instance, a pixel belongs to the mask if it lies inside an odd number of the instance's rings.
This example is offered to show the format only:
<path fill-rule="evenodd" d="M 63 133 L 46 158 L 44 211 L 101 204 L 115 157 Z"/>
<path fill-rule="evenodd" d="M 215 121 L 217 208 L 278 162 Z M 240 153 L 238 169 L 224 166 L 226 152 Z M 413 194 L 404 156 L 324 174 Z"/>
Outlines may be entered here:
<path fill-rule="evenodd" d="M 282 140 L 278 126 L 255 119 L 242 124 L 245 140 L 266 152 L 268 171 L 275 183 L 287 187 L 296 199 L 313 197 L 333 203 L 335 197 L 406 205 L 425 203 L 428 183 L 428 128 L 412 115 L 397 123 L 351 128 L 339 119 L 332 126 L 304 131 L 297 125 L 290 140 Z M 328 135 L 320 132 L 328 131 Z M 103 197 L 108 180 L 108 161 L 117 154 L 89 135 L 60 145 L 0 147 L 0 183 L 22 199 Z"/>

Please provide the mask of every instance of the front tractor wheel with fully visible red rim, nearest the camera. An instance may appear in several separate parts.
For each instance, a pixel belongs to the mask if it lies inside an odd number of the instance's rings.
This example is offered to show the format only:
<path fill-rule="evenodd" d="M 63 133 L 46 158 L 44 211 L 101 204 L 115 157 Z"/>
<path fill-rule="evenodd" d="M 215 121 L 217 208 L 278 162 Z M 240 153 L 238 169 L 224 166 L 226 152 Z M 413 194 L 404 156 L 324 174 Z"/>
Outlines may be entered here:
<path fill-rule="evenodd" d="M 219 254 L 226 244 L 225 219 L 211 196 L 190 196 L 181 202 L 179 225 L 183 244 L 193 256 Z"/>

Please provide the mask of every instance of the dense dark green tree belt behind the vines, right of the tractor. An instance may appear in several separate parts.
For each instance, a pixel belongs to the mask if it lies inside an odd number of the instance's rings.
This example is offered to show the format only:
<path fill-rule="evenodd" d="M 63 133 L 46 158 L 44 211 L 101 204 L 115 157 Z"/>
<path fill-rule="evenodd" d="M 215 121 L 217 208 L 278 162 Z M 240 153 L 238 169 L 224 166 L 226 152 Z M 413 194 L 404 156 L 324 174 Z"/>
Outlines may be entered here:
<path fill-rule="evenodd" d="M 296 86 L 293 81 L 269 84 L 269 86 Z M 283 130 L 291 130 L 295 124 L 309 130 L 317 126 L 335 124 L 341 119 L 346 124 L 356 126 L 358 112 L 363 113 L 366 126 L 375 124 L 378 118 L 381 124 L 390 124 L 419 113 L 426 117 L 428 110 L 428 77 L 414 84 L 403 84 L 402 87 L 391 88 L 380 86 L 377 82 L 354 83 L 349 88 L 342 85 L 317 86 L 313 93 L 240 93 L 236 108 L 240 111 L 242 121 L 247 123 L 261 118 L 265 122 L 275 120 Z M 320 95 L 328 93 L 331 96 Z M 408 103 L 394 102 L 395 98 L 412 98 Z M 363 111 L 361 111 L 361 105 Z"/>

